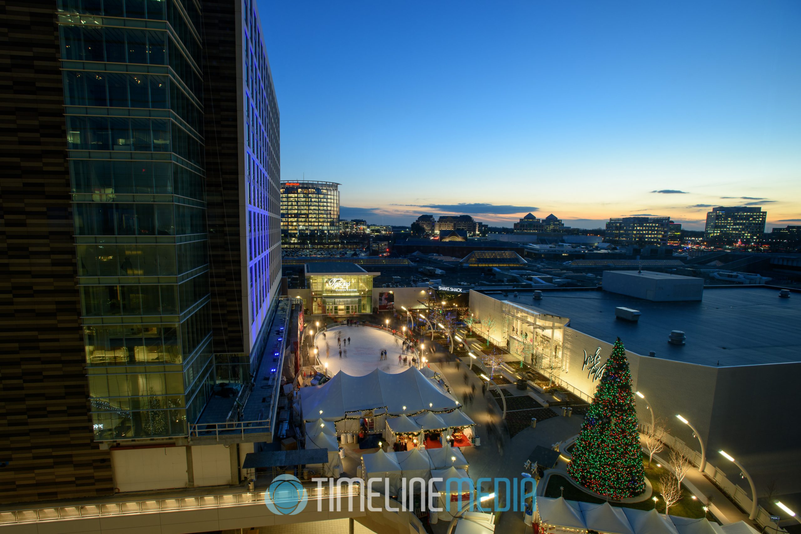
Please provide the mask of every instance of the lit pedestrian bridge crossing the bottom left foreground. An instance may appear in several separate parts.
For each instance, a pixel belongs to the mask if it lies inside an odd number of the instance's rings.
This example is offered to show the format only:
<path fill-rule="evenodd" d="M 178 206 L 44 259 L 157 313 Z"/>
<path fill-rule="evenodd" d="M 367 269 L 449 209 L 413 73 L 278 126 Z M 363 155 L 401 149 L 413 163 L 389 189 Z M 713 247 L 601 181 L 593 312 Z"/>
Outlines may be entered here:
<path fill-rule="evenodd" d="M 210 488 L 214 490 L 217 488 Z M 0 512 L 0 534 L 192 534 L 237 528 L 258 528 L 280 524 L 353 518 L 374 532 L 406 534 L 425 532 L 412 512 L 384 510 L 384 498 L 372 499 L 371 512 L 361 510 L 360 484 L 334 488 L 304 487 L 308 502 L 294 516 L 273 514 L 264 504 L 264 491 L 212 492 L 178 490 L 143 500 L 74 502 L 42 508 L 19 508 Z M 192 492 L 191 495 L 188 495 Z M 348 512 L 348 501 L 352 511 Z M 398 506 L 397 508 L 400 508 Z"/>

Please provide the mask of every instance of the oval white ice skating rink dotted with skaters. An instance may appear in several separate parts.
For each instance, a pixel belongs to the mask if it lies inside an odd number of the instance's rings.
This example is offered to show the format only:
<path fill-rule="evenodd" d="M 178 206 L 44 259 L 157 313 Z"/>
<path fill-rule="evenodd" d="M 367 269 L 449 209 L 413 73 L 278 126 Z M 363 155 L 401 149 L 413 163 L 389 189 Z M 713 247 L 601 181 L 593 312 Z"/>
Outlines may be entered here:
<path fill-rule="evenodd" d="M 342 340 L 342 359 L 336 335 L 340 335 Z M 345 343 L 348 337 L 350 343 Z M 403 348 L 403 342 L 391 332 L 374 327 L 329 327 L 316 335 L 315 343 L 317 350 L 320 351 L 320 363 L 328 363 L 329 376 L 336 375 L 339 371 L 352 376 L 363 376 L 369 375 L 373 369 L 397 373 L 408 368 L 408 362 L 412 359 L 412 353 L 407 352 L 406 365 L 403 363 L 398 365 L 398 355 Z M 326 343 L 328 343 L 328 357 L 325 353 Z M 382 349 L 386 349 L 387 359 L 380 359 Z M 348 353 L 347 358 L 345 351 Z"/>

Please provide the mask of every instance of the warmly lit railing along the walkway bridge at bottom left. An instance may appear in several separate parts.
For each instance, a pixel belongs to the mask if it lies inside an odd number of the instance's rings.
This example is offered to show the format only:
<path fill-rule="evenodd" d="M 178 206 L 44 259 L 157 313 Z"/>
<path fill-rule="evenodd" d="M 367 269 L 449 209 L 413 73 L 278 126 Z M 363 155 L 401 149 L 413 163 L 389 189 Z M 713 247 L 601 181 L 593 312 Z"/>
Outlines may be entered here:
<path fill-rule="evenodd" d="M 333 489 L 333 492 L 331 492 Z M 360 484 L 304 488 L 308 500 L 351 497 L 360 494 Z M 129 500 L 100 504 L 76 504 L 74 506 L 30 508 L 0 512 L 0 525 L 33 523 L 36 521 L 58 521 L 92 517 L 125 516 L 154 512 L 178 512 L 203 508 L 224 508 L 264 503 L 268 492 L 220 493 L 203 496 L 175 496 L 166 499 Z"/>

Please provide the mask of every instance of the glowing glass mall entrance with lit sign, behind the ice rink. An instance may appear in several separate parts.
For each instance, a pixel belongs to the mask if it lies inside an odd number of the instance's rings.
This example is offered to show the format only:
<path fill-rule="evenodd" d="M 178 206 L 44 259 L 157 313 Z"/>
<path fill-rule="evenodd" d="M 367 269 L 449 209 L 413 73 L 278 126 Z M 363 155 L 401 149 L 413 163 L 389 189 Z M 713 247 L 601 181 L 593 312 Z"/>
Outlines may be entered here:
<path fill-rule="evenodd" d="M 307 263 L 305 272 L 312 315 L 372 312 L 372 278 L 377 272 L 349 262 Z"/>

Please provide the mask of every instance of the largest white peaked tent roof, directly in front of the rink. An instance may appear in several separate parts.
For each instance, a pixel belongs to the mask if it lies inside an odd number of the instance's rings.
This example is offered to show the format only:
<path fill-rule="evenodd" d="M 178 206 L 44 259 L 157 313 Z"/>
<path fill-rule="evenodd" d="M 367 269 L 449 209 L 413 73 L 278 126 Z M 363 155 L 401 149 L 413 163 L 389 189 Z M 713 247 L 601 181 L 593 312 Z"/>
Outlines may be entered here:
<path fill-rule="evenodd" d="M 384 407 L 389 414 L 400 416 L 424 410 L 444 412 L 461 406 L 415 367 L 400 373 L 376 369 L 364 376 L 346 375 L 340 371 L 321 386 L 301 387 L 300 405 L 305 421 L 320 417 L 338 420 L 347 412 Z"/>

